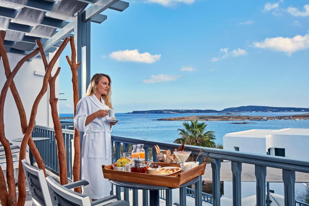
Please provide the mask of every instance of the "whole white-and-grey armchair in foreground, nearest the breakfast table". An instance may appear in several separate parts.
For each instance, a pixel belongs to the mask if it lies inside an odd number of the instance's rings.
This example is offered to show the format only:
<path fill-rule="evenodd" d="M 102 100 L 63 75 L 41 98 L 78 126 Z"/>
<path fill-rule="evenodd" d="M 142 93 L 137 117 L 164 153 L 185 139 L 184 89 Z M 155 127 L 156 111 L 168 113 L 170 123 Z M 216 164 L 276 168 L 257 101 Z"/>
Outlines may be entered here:
<path fill-rule="evenodd" d="M 124 200 L 119 200 L 116 195 L 110 195 L 100 200 L 91 201 L 90 189 L 86 180 L 80 180 L 71 184 L 61 185 L 53 177 L 46 178 L 49 194 L 53 205 L 57 206 L 129 206 Z M 84 187 L 86 195 L 74 192 L 70 189 Z M 103 187 L 103 186 L 102 186 Z"/>

